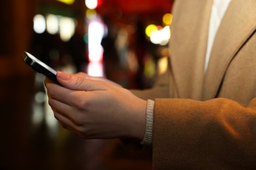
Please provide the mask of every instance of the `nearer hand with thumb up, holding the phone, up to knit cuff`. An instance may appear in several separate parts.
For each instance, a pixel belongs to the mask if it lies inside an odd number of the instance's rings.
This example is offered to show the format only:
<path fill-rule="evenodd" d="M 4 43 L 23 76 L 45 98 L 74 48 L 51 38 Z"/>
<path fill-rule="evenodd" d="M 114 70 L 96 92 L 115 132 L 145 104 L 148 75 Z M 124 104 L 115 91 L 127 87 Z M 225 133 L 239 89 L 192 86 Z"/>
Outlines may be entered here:
<path fill-rule="evenodd" d="M 45 79 L 55 118 L 85 139 L 130 137 L 142 140 L 146 101 L 117 84 L 86 74 L 58 72 L 58 82 Z"/>

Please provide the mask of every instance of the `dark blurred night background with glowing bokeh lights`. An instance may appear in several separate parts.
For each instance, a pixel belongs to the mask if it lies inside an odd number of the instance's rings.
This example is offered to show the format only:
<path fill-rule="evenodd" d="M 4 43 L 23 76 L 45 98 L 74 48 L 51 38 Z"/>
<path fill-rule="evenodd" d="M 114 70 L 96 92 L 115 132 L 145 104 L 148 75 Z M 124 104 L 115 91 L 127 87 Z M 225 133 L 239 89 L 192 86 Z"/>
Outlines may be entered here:
<path fill-rule="evenodd" d="M 171 0 L 0 1 L 0 169 L 151 169 L 148 148 L 62 128 L 30 52 L 56 70 L 150 88 L 167 67 Z"/>

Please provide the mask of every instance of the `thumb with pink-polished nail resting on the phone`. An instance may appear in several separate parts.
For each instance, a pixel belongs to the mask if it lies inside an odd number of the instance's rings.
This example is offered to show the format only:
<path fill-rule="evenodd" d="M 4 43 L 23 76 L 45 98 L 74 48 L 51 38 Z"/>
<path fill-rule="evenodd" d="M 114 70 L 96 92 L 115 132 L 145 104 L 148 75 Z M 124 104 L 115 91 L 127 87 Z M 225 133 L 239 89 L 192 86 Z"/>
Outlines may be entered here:
<path fill-rule="evenodd" d="M 106 86 L 100 81 L 89 80 L 81 76 L 63 73 L 58 71 L 56 78 L 58 82 L 70 90 L 93 91 L 106 90 Z"/>

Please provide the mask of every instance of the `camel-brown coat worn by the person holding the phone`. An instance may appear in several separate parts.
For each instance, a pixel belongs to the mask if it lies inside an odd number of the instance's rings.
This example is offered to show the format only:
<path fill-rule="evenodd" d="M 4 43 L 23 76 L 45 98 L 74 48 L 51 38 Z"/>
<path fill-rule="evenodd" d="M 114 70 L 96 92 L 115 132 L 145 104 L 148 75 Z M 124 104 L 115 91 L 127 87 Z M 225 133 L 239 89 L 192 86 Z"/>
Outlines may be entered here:
<path fill-rule="evenodd" d="M 177 0 L 154 88 L 154 169 L 256 169 L 256 1 L 232 0 L 203 73 L 212 0 Z"/>

